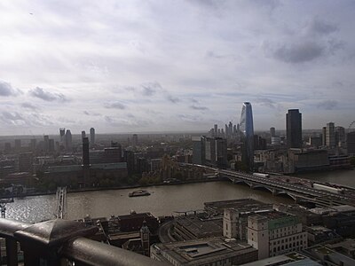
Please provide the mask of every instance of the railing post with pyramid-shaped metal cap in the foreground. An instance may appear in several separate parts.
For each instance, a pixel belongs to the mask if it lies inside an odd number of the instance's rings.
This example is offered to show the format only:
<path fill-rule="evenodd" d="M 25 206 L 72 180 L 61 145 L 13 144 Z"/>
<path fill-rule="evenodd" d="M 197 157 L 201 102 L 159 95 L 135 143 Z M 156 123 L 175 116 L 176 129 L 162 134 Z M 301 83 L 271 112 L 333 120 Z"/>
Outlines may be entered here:
<path fill-rule="evenodd" d="M 91 236 L 98 231 L 96 226 L 62 219 L 36 223 L 28 228 L 14 232 L 24 252 L 25 266 L 48 265 L 60 266 L 61 247 L 77 237 Z"/>

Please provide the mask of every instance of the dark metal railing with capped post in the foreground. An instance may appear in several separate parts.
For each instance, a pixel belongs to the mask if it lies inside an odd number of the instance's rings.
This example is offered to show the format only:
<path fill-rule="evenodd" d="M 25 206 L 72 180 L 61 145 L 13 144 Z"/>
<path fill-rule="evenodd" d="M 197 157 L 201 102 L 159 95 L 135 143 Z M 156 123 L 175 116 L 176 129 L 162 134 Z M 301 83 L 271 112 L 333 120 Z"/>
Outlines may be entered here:
<path fill-rule="evenodd" d="M 18 243 L 25 266 L 168 265 L 141 254 L 84 238 L 97 231 L 96 226 L 61 219 L 31 224 L 0 218 L 0 237 L 5 239 L 6 246 L 6 262 L 1 262 L 0 265 L 19 265 Z M 2 254 L 0 261 L 1 259 Z"/>

